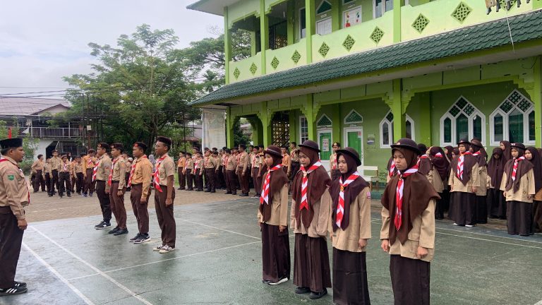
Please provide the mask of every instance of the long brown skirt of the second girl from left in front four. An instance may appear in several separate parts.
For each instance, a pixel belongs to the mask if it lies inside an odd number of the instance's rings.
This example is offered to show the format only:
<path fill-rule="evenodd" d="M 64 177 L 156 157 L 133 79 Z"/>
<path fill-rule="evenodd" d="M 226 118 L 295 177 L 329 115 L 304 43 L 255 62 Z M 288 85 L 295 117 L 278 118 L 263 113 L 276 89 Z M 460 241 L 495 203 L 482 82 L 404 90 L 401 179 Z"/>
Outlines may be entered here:
<path fill-rule="evenodd" d="M 309 287 L 312 292 L 331 287 L 330 255 L 323 237 L 296 233 L 294 285 Z"/>

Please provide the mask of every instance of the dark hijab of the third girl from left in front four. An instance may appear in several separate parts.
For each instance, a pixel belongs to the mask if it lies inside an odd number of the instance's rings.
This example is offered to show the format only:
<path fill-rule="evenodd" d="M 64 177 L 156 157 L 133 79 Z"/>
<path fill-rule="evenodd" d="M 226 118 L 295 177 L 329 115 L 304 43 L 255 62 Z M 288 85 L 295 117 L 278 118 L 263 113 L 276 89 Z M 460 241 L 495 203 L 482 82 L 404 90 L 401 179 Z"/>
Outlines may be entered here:
<path fill-rule="evenodd" d="M 347 181 L 351 174 L 354 174 L 358 170 L 358 165 L 354 157 L 351 157 L 347 154 L 337 153 L 337 160 L 339 157 L 343 156 L 344 160 L 347 161 L 348 171 L 345 174 L 341 174 L 341 179 Z M 350 223 L 350 204 L 352 201 L 355 201 L 359 196 L 361 191 L 368 186 L 367 182 L 363 177 L 358 177 L 356 180 L 352 181 L 347 187 L 344 188 L 344 213 L 342 216 L 341 229 L 347 229 Z M 337 227 L 337 205 L 339 205 L 339 193 L 341 191 L 341 184 L 339 179 L 335 179 L 330 186 L 330 195 L 333 201 L 332 208 L 332 220 L 333 220 L 333 231 L 335 232 Z"/>

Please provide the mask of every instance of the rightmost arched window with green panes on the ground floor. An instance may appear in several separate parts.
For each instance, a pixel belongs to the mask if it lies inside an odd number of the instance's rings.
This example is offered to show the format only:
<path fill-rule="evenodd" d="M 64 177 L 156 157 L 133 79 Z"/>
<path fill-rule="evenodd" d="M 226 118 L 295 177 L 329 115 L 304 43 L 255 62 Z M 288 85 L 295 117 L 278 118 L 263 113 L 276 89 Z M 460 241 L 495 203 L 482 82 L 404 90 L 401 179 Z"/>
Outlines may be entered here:
<path fill-rule="evenodd" d="M 514 90 L 489 116 L 490 143 L 501 140 L 534 145 L 534 104 Z"/>

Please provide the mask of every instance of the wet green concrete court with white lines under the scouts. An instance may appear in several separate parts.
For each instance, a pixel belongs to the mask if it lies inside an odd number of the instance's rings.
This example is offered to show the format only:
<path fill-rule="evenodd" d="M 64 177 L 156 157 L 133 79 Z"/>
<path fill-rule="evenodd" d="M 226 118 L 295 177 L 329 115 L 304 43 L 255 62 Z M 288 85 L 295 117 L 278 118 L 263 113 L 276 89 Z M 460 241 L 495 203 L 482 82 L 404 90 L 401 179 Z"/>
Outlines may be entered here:
<path fill-rule="evenodd" d="M 332 289 L 312 301 L 295 294 L 291 280 L 277 287 L 262 284 L 257 199 L 177 191 L 176 205 L 176 251 L 159 254 L 152 251 L 159 243 L 154 209 L 152 242 L 128 242 L 136 233 L 128 196 L 130 234 L 113 237 L 93 228 L 101 220 L 97 198 L 32 194 L 17 273 L 29 292 L 0 297 L 0 304 L 332 304 Z M 369 291 L 372 304 L 392 304 L 378 210 L 375 201 Z M 503 224 L 465 228 L 437 222 L 433 304 L 542 304 L 542 235 L 512 237 Z"/>

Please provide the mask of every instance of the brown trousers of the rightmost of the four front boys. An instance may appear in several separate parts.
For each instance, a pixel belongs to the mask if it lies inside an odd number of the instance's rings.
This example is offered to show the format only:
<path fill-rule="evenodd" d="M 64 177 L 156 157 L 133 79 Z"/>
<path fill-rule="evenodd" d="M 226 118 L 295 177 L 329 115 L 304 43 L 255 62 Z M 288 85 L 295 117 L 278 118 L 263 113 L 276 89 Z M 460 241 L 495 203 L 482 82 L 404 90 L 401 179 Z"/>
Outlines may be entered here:
<path fill-rule="evenodd" d="M 162 230 L 162 244 L 175 248 L 175 217 L 173 203 L 166 205 L 167 186 L 160 185 L 162 192 L 155 190 L 155 209 L 158 225 Z M 171 190 L 171 200 L 175 201 L 175 188 Z"/>

